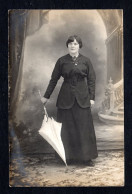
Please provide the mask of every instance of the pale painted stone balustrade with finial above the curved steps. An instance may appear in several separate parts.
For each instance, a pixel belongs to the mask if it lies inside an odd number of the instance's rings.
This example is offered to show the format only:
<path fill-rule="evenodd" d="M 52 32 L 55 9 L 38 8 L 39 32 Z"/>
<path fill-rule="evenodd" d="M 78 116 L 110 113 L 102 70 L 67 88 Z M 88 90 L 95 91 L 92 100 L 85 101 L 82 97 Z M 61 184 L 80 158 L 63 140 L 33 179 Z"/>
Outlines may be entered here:
<path fill-rule="evenodd" d="M 110 78 L 108 85 L 105 88 L 105 99 L 102 102 L 102 112 L 110 113 L 123 103 L 123 80 L 113 84 Z"/>

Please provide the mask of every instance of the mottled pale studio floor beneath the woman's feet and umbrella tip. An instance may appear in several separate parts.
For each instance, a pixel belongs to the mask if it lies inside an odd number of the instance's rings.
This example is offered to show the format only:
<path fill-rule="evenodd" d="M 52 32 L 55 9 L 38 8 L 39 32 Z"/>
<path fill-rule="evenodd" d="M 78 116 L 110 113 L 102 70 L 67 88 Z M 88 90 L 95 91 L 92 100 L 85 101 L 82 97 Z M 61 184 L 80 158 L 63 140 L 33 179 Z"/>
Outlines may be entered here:
<path fill-rule="evenodd" d="M 124 151 L 99 151 L 95 166 L 65 167 L 55 158 L 27 155 L 10 162 L 10 187 L 97 187 L 124 185 Z"/>

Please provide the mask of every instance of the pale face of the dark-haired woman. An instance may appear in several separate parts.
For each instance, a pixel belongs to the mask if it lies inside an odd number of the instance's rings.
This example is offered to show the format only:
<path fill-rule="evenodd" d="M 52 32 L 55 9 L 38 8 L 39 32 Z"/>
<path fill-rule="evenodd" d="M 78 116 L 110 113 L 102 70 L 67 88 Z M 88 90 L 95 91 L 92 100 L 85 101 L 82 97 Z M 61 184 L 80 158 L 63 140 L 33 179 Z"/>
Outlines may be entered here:
<path fill-rule="evenodd" d="M 79 52 L 79 43 L 76 39 L 68 44 L 68 51 L 70 54 L 77 54 Z"/>

